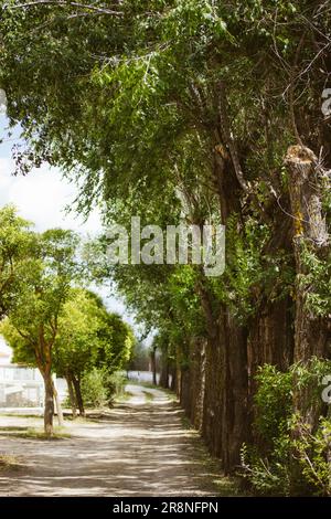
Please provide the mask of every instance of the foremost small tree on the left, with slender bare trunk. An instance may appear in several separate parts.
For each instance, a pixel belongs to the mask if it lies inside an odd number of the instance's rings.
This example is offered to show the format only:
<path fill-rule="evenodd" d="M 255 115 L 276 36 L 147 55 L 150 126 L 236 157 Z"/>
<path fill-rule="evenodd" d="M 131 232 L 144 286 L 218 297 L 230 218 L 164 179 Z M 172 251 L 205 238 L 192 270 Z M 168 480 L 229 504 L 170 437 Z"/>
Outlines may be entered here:
<path fill-rule="evenodd" d="M 30 256 L 21 267 L 21 286 L 1 331 L 14 350 L 17 362 L 35 363 L 45 386 L 44 428 L 53 434 L 53 348 L 58 318 L 77 275 L 77 236 L 71 231 L 51 230 L 34 236 Z"/>

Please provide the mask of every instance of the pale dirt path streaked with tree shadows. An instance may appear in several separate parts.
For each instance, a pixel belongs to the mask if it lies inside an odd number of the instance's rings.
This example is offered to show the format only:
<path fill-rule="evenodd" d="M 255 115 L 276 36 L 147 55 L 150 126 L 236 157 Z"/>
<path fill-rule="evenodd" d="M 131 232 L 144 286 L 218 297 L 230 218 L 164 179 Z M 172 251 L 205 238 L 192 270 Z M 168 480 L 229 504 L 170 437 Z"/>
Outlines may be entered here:
<path fill-rule="evenodd" d="M 65 439 L 10 437 L 4 427 L 41 426 L 42 422 L 0 416 L 0 453 L 21 460 L 18 469 L 0 470 L 0 496 L 231 494 L 228 481 L 205 462 L 196 433 L 183 427 L 181 410 L 166 393 L 137 385 L 127 390 L 132 398 L 107 415 L 67 422 L 71 437 Z"/>

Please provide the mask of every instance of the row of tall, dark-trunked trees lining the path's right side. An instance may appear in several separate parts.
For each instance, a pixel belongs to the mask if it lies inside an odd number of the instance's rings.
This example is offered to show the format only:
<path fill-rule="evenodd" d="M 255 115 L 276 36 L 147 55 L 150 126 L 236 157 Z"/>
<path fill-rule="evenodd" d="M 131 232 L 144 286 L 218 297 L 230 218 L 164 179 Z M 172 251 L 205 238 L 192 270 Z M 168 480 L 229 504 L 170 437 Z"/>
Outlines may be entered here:
<path fill-rule="evenodd" d="M 330 38 L 319 0 L 3 2 L 0 83 L 29 142 L 18 170 L 60 166 L 106 224 L 226 226 L 218 278 L 96 265 L 158 328 L 164 381 L 172 370 L 226 472 L 244 443 L 273 456 L 254 426 L 259 367 L 330 357 Z M 290 380 L 305 426 L 288 444 L 327 413 Z"/>

